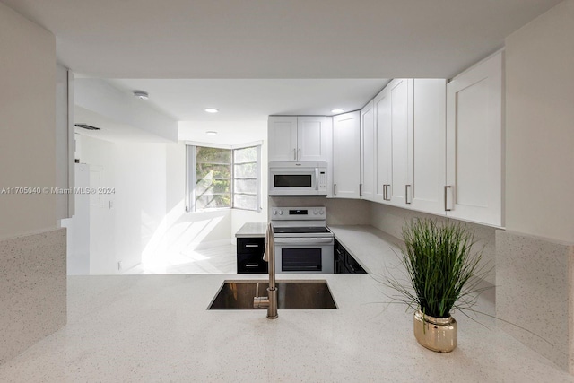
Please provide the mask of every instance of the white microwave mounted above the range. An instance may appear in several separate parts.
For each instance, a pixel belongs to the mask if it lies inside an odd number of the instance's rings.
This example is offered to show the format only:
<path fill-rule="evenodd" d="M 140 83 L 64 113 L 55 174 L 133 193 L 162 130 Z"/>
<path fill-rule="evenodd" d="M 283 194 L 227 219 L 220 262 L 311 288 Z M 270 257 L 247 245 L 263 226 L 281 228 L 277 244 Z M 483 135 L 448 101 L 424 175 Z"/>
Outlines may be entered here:
<path fill-rule="evenodd" d="M 326 162 L 269 162 L 269 196 L 326 196 Z"/>

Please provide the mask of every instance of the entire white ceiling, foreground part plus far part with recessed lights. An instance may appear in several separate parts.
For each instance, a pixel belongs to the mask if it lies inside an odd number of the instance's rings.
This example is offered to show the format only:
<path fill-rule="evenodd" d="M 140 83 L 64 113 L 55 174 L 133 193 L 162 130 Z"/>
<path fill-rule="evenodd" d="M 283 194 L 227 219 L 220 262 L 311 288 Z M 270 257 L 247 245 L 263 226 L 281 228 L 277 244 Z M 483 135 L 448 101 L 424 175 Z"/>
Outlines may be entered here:
<path fill-rule="evenodd" d="M 458 74 L 560 1 L 0 0 L 51 30 L 74 73 L 181 120 L 361 108 L 384 79 Z"/>

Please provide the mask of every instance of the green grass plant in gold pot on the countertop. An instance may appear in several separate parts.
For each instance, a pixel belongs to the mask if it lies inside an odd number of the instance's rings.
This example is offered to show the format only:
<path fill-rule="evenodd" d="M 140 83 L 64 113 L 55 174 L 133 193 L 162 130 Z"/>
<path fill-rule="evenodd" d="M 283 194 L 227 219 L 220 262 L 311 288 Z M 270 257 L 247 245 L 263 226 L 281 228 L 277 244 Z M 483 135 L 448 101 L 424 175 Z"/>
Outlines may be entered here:
<path fill-rule="evenodd" d="M 474 251 L 474 232 L 462 223 L 413 219 L 403 227 L 400 260 L 408 283 L 386 277 L 397 294 L 390 298 L 415 309 L 414 336 L 440 353 L 457 347 L 457 321 L 452 309 L 470 309 L 486 271 L 482 251 Z"/>

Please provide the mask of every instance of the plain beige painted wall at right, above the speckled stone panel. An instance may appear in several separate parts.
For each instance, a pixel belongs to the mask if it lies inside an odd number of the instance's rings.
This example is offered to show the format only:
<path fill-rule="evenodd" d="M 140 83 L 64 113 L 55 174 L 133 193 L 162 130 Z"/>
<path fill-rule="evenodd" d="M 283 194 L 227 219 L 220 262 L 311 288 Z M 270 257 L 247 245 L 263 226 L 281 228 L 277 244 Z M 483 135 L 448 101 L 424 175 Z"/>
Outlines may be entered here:
<path fill-rule="evenodd" d="M 574 1 L 506 39 L 506 227 L 574 242 Z"/>

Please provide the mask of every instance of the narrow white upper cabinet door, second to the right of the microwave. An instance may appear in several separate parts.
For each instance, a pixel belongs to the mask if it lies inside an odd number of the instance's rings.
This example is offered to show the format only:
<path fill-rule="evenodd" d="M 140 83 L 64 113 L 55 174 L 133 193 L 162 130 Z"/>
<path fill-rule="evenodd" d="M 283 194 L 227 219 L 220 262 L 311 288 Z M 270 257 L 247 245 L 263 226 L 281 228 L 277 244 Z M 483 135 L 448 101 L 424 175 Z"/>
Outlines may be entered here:
<path fill-rule="evenodd" d="M 361 110 L 361 198 L 375 200 L 376 184 L 375 110 L 370 101 Z"/>

